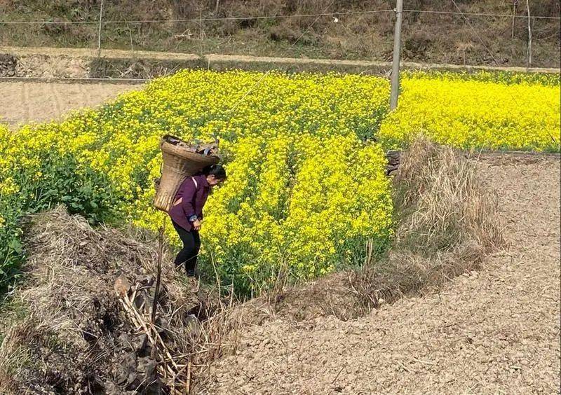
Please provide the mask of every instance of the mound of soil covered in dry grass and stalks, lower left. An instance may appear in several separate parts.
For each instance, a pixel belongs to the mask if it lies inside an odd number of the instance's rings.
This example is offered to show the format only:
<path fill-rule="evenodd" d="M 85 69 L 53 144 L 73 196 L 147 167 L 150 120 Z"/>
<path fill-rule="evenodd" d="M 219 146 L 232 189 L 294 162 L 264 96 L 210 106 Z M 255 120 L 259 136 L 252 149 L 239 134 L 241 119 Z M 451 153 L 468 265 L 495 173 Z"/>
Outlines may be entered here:
<path fill-rule="evenodd" d="M 189 385 L 198 317 L 212 307 L 169 259 L 151 326 L 151 244 L 94 230 L 60 208 L 33 216 L 26 233 L 26 283 L 14 297 L 25 313 L 0 348 L 1 394 L 159 394 Z"/>

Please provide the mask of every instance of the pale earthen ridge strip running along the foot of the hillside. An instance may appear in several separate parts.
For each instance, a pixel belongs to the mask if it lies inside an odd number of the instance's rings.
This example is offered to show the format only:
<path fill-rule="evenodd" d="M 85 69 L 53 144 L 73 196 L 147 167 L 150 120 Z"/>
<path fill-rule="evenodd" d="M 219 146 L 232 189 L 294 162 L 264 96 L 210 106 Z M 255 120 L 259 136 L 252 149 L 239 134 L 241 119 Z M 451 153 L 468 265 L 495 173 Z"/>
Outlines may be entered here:
<path fill-rule="evenodd" d="M 285 71 L 341 71 L 356 72 L 365 74 L 388 75 L 391 71 L 391 62 L 366 61 L 366 60 L 335 60 L 335 59 L 314 59 L 307 57 L 266 57 L 249 55 L 217 55 L 213 53 L 173 53 L 146 50 L 114 50 L 102 49 L 100 59 L 97 59 L 97 50 L 93 48 L 33 48 L 33 47 L 12 47 L 0 46 L 0 53 L 5 53 L 13 57 L 22 58 L 23 63 L 29 63 L 22 67 L 22 71 L 16 69 L 13 75 L 5 74 L 0 76 L 44 76 L 44 77 L 106 77 L 111 78 L 139 78 L 149 79 L 154 75 L 169 74 L 183 68 L 201 69 L 246 69 L 263 71 L 264 69 L 280 69 Z M 41 59 L 30 59 L 40 57 Z M 60 59 L 78 60 L 81 64 L 69 64 L 63 68 L 64 63 Z M 126 63 L 123 64 L 123 61 Z M 131 64 L 147 62 L 147 67 L 154 71 L 131 73 L 128 68 Z M 96 63 L 97 62 L 97 63 Z M 133 62 L 133 63 L 130 63 Z M 161 63 L 160 63 L 161 62 Z M 166 64 L 171 62 L 170 64 Z M 55 66 L 56 64 L 56 66 Z M 121 75 L 112 74 L 108 71 L 112 64 L 114 67 L 121 67 Z M 559 73 L 559 68 L 552 67 L 494 67 L 484 65 L 458 65 L 458 64 L 437 64 L 422 62 L 401 62 L 404 70 L 439 70 L 439 71 L 508 71 L 508 72 L 530 72 L 530 73 Z M 142 78 L 144 77 L 144 78 Z"/>

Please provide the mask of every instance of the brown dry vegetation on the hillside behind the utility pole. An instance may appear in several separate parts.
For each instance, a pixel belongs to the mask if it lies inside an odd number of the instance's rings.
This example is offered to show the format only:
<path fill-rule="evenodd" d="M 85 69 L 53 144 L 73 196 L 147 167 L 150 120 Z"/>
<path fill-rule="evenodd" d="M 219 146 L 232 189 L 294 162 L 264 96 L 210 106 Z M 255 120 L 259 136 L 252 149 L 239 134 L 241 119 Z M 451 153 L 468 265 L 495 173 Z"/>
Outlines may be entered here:
<path fill-rule="evenodd" d="M 525 15 L 523 2 L 517 15 Z M 511 0 L 457 1 L 466 13 L 511 15 Z M 118 0 L 106 1 L 104 20 L 182 20 L 191 22 L 104 25 L 102 46 L 189 53 L 326 57 L 391 60 L 393 13 L 344 15 L 344 12 L 392 9 L 393 0 Z M 99 18 L 99 0 L 3 0 L 0 13 L 7 20 L 82 20 Z M 452 1 L 410 0 L 405 9 L 457 11 Z M 199 22 L 198 18 L 259 15 L 342 13 L 332 16 L 264 20 Z M 560 1 L 531 2 L 532 15 L 557 17 Z M 460 15 L 405 13 L 403 58 L 415 62 L 525 66 L 527 20 Z M 532 20 L 535 67 L 559 67 L 558 20 Z M 514 32 L 514 36 L 512 36 Z M 298 41 L 297 45 L 293 44 Z M 0 25 L 4 46 L 97 46 L 97 26 Z M 487 47 L 488 49 L 486 49 Z"/>

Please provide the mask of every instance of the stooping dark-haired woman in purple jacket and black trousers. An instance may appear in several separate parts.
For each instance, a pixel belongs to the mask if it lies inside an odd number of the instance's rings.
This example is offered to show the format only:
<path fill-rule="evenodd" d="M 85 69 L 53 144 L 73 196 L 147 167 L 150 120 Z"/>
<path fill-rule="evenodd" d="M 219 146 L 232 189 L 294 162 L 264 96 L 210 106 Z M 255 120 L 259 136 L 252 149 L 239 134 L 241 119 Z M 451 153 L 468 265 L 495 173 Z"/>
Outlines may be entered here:
<path fill-rule="evenodd" d="M 226 170 L 221 165 L 205 167 L 201 173 L 189 176 L 181 184 L 170 214 L 173 227 L 180 235 L 183 249 L 175 258 L 175 266 L 185 265 L 188 277 L 194 277 L 198 250 L 201 248 L 203 207 L 210 189 L 226 179 Z"/>

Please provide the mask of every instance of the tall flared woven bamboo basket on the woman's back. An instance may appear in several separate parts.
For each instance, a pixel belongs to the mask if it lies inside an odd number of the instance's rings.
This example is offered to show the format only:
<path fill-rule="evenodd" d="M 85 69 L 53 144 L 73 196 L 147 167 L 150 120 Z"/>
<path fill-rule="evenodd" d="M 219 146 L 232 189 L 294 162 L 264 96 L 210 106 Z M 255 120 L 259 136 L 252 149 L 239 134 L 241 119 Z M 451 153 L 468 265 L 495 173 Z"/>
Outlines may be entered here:
<path fill-rule="evenodd" d="M 163 157 L 162 176 L 154 197 L 154 207 L 163 212 L 171 209 L 175 194 L 184 179 L 219 161 L 217 156 L 194 153 L 170 144 L 165 140 L 166 137 L 168 136 L 162 138 L 160 144 Z"/>

